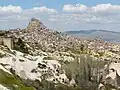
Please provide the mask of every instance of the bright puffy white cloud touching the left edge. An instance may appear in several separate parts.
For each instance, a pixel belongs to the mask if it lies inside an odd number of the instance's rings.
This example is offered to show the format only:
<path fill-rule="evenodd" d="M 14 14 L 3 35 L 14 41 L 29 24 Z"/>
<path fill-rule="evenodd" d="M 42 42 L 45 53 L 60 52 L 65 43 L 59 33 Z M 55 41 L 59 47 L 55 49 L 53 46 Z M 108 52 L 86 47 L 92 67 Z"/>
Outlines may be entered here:
<path fill-rule="evenodd" d="M 0 12 L 20 13 L 22 11 L 23 10 L 20 6 L 8 5 L 8 6 L 0 7 Z"/>

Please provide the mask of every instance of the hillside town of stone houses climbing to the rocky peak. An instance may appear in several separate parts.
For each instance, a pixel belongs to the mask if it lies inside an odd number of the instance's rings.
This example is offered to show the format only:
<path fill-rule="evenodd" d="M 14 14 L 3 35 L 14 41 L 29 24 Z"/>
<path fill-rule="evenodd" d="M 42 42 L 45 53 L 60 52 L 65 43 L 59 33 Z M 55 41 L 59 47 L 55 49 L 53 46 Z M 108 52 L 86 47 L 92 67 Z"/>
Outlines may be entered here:
<path fill-rule="evenodd" d="M 0 33 L 0 44 L 7 45 L 13 48 L 13 38 L 22 38 L 24 42 L 34 47 L 36 50 L 43 50 L 44 52 L 78 52 L 81 50 L 81 45 L 87 53 L 96 55 L 98 53 L 105 53 L 108 56 L 120 59 L 118 52 L 120 45 L 108 43 L 101 39 L 82 39 L 78 37 L 67 36 L 61 32 L 52 31 L 37 19 L 32 18 L 26 29 L 10 30 L 7 37 L 5 32 Z M 102 58 L 108 59 L 109 57 L 103 56 Z"/>

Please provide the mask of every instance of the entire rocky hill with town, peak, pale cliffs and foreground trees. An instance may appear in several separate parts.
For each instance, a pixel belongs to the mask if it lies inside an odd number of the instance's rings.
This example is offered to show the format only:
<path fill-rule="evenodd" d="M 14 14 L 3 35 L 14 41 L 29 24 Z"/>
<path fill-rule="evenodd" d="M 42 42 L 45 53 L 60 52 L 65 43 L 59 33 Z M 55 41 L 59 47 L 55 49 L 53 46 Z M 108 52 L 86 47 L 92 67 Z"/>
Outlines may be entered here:
<path fill-rule="evenodd" d="M 34 18 L 27 28 L 8 30 L 1 36 L 13 40 L 13 48 L 0 45 L 2 89 L 119 89 L 118 44 L 68 36 Z"/>

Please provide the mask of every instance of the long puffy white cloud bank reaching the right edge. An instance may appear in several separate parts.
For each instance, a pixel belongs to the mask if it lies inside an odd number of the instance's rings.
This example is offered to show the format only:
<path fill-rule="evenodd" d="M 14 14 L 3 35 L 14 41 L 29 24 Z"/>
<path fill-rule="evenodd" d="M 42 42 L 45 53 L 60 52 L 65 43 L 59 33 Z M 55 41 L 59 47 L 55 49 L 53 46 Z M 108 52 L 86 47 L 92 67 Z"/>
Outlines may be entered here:
<path fill-rule="evenodd" d="M 108 4 L 98 4 L 96 6 L 88 7 L 83 4 L 76 4 L 71 5 L 67 4 L 63 6 L 64 12 L 71 12 L 71 13 L 103 13 L 103 14 L 109 14 L 109 13 L 120 13 L 120 5 L 112 5 L 110 3 Z"/>

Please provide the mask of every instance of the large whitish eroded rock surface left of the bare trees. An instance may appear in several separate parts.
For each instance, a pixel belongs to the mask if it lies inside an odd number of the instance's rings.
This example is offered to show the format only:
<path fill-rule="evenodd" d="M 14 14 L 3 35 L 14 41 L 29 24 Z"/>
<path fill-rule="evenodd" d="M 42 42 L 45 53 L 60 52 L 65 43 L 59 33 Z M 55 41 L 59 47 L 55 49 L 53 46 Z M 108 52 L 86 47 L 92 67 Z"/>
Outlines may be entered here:
<path fill-rule="evenodd" d="M 56 81 L 60 83 L 69 82 L 65 72 L 61 70 L 61 64 L 57 60 L 43 60 L 40 56 L 31 56 L 12 50 L 15 55 L 4 52 L 8 57 L 0 59 L 0 69 L 10 73 L 11 68 L 15 73 L 23 79 L 39 80 L 45 78 L 48 81 Z M 11 74 L 11 73 L 10 73 Z M 44 77 L 43 77 L 44 76 Z"/>

